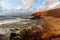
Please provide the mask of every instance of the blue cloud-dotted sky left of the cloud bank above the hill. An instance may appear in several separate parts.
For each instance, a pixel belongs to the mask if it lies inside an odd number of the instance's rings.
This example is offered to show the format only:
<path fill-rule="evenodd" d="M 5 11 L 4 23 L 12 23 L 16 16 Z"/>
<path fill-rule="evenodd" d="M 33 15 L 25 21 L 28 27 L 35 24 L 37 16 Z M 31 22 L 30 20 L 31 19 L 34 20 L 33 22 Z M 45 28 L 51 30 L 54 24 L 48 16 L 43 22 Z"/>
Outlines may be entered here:
<path fill-rule="evenodd" d="M 30 11 L 40 6 L 44 0 L 0 0 L 0 11 L 17 12 Z"/>

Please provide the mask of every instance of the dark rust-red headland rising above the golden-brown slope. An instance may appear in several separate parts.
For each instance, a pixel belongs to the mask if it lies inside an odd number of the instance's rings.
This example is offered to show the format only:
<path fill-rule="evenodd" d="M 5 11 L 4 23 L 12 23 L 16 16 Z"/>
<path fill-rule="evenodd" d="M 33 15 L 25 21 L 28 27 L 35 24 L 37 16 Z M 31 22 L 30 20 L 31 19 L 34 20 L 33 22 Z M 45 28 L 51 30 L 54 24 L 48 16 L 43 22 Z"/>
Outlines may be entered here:
<path fill-rule="evenodd" d="M 51 9 L 48 11 L 43 11 L 43 12 L 36 12 L 32 14 L 32 16 L 52 16 L 59 18 L 60 17 L 60 8 L 57 9 Z"/>

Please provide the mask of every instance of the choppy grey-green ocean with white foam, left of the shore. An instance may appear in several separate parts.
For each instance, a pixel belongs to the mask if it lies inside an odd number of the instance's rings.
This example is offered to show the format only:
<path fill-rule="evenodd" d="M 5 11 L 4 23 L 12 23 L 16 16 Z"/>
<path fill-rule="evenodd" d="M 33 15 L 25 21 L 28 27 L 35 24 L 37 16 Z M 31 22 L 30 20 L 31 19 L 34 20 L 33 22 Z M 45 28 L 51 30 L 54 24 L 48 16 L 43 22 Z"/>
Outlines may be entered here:
<path fill-rule="evenodd" d="M 0 16 L 0 34 L 7 34 L 10 29 L 30 28 L 35 25 L 34 20 L 20 16 Z"/>

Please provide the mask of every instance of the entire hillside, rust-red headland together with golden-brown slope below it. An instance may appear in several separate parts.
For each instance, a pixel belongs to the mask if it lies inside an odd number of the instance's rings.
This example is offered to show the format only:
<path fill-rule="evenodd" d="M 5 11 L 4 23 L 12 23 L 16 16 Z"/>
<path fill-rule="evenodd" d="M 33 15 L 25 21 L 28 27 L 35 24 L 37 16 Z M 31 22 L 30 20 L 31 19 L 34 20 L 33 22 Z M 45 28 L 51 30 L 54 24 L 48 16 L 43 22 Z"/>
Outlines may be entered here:
<path fill-rule="evenodd" d="M 60 35 L 60 8 L 51 9 L 44 12 L 36 12 L 32 14 L 32 16 L 43 16 L 42 20 L 45 23 L 45 30 L 55 35 Z M 38 19 L 38 21 L 40 20 Z"/>

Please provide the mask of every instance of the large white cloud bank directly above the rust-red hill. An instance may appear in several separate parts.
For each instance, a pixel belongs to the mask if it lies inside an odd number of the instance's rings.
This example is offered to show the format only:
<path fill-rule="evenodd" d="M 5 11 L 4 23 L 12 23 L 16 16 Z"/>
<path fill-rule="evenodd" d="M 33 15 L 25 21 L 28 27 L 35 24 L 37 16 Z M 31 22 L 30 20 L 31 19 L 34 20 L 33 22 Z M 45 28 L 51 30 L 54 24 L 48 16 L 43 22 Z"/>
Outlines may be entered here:
<path fill-rule="evenodd" d="M 57 5 L 60 5 L 60 2 L 58 2 L 57 0 L 46 0 L 41 6 L 36 9 L 36 11 L 50 10 L 53 8 L 57 8 Z"/>

